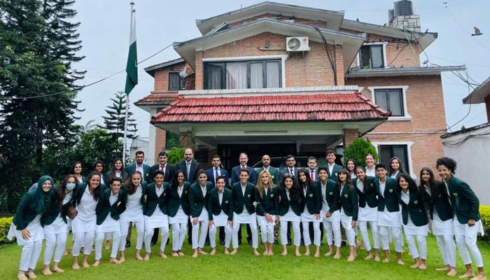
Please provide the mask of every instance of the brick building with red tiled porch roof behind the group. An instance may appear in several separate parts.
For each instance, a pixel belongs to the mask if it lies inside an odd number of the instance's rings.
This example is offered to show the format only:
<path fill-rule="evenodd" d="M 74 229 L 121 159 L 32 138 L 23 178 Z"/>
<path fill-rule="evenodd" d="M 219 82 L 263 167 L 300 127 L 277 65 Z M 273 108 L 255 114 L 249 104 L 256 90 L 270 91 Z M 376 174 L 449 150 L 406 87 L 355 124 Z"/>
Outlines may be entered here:
<path fill-rule="evenodd" d="M 196 24 L 202 36 L 174 43 L 179 59 L 145 69 L 155 89 L 135 104 L 151 114 L 150 161 L 180 144 L 230 168 L 241 151 L 253 164 L 364 137 L 416 176 L 443 155 L 441 72 L 465 66 L 421 66 L 437 33 L 421 32 L 418 15 L 395 9 L 381 26 L 262 2 Z"/>

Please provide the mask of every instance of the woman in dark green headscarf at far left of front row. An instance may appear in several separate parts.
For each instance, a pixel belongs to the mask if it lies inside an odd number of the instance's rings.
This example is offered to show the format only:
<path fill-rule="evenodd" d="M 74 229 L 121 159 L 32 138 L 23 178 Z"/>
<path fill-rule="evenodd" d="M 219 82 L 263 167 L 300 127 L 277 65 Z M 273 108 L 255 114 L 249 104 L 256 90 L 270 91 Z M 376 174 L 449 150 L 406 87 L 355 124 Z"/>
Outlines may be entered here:
<path fill-rule="evenodd" d="M 31 190 L 22 197 L 17 207 L 12 225 L 8 232 L 8 239 L 15 236 L 17 244 L 22 246 L 20 266 L 17 279 L 27 280 L 37 278 L 34 274 L 36 263 L 41 255 L 44 231 L 41 225 L 41 217 L 48 210 L 55 191 L 52 190 L 54 180 L 44 175 L 38 180 L 38 188 Z"/>

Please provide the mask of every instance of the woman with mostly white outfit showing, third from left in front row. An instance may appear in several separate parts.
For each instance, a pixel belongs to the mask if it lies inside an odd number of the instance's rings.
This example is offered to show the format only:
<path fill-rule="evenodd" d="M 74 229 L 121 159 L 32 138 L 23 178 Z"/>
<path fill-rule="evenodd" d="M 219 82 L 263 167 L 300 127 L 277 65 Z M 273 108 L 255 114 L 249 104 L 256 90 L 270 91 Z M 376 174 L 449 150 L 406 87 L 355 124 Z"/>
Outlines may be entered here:
<path fill-rule="evenodd" d="M 76 195 L 76 210 L 78 214 L 71 223 L 73 232 L 73 269 L 80 269 L 78 265 L 78 255 L 80 248 L 83 247 L 83 267 L 88 265 L 88 256 L 94 244 L 95 229 L 97 227 L 97 216 L 95 209 L 101 197 L 101 174 L 92 172 L 87 177 L 87 183 L 80 185 L 80 190 Z"/>

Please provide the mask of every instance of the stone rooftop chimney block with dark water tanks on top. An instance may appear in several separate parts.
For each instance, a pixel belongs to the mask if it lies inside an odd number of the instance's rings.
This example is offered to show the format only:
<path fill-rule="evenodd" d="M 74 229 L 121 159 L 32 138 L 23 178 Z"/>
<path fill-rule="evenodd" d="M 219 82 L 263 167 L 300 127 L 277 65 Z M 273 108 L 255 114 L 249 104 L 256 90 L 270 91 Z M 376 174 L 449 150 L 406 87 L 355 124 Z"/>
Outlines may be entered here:
<path fill-rule="evenodd" d="M 414 15 L 412 1 L 401 0 L 393 3 L 388 10 L 388 27 L 420 32 L 420 15 Z"/>

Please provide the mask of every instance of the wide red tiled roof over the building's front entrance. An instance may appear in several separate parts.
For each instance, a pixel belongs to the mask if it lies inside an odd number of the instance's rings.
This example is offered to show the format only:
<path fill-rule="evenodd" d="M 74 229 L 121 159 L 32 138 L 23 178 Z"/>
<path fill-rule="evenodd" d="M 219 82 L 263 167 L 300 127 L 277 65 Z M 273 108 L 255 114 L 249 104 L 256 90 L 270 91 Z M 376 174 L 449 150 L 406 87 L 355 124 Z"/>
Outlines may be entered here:
<path fill-rule="evenodd" d="M 362 94 L 260 97 L 179 97 L 153 116 L 151 123 L 241 123 L 386 120 L 384 111 Z"/>

